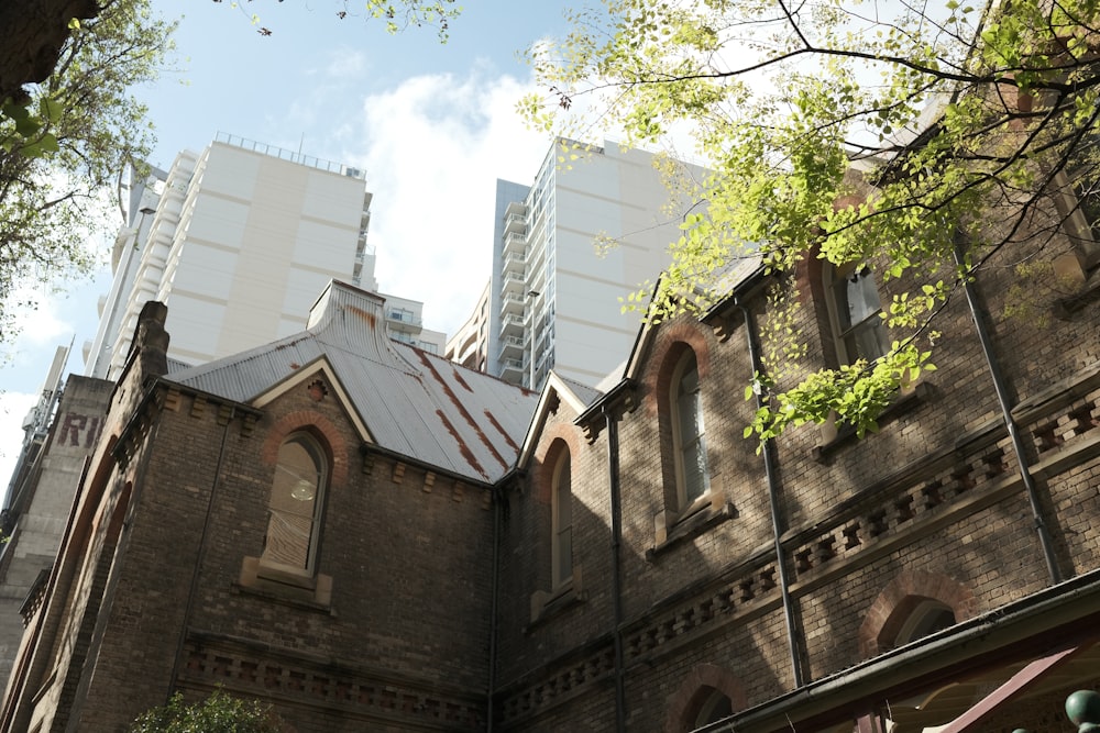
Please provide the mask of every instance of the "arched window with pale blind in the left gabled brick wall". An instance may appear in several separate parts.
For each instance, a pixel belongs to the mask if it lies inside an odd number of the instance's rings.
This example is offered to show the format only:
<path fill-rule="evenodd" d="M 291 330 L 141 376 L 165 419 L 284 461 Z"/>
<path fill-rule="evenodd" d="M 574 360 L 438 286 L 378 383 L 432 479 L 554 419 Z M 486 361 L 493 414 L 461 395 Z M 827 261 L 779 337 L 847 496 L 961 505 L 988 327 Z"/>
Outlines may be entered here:
<path fill-rule="evenodd" d="M 314 569 L 327 466 L 320 446 L 305 433 L 290 435 L 279 446 L 267 507 L 265 563 Z"/>

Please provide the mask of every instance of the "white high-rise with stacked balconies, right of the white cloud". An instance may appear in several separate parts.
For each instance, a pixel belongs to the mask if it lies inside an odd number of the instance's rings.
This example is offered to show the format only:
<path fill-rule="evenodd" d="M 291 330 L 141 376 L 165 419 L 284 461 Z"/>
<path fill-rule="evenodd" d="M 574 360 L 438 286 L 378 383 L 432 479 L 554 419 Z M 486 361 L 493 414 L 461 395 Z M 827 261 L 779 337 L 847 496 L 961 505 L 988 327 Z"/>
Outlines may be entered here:
<path fill-rule="evenodd" d="M 497 181 L 488 373 L 531 389 L 551 368 L 593 386 L 626 358 L 639 315 L 620 299 L 669 265 L 690 206 L 670 202 L 653 154 L 606 143 L 562 155 L 563 142 L 531 187 Z M 597 252 L 605 238 L 615 246 Z"/>

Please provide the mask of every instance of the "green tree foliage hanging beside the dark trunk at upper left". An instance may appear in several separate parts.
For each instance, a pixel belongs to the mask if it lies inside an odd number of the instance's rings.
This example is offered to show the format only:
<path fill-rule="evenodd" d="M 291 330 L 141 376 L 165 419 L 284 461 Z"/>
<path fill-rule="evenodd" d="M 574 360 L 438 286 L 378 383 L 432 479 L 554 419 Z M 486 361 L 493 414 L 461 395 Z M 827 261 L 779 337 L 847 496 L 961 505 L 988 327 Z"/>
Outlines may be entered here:
<path fill-rule="evenodd" d="M 135 86 L 152 81 L 172 25 L 148 0 L 113 0 L 73 21 L 53 74 L 0 103 L 0 333 L 10 337 L 12 296 L 29 280 L 87 271 L 85 237 L 109 207 L 127 164 L 152 143 Z M 18 303 L 28 306 L 33 303 Z"/>

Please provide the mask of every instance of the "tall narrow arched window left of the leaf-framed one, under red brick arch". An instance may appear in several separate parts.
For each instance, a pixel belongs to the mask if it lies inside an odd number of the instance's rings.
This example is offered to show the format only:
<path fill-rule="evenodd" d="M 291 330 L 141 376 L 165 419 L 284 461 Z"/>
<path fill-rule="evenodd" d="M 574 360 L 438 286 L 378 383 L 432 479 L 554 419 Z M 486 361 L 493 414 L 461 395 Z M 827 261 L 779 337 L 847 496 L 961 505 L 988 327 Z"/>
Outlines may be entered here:
<path fill-rule="evenodd" d="M 695 352 L 684 349 L 672 373 L 672 440 L 675 446 L 680 509 L 686 509 L 711 488 L 706 468 L 706 438 Z"/>

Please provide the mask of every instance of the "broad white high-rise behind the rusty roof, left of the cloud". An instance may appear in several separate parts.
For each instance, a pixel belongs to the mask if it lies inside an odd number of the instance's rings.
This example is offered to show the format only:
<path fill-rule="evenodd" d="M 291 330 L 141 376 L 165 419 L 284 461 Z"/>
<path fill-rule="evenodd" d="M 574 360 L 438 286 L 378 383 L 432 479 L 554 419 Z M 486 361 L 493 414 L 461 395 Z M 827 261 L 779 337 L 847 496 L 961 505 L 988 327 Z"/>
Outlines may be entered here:
<path fill-rule="evenodd" d="M 168 306 L 168 357 L 201 364 L 304 330 L 330 279 L 376 291 L 371 199 L 358 168 L 237 136 L 180 153 L 132 186 L 86 374 L 118 376 L 150 300 Z M 441 352 L 421 309 L 388 299 L 391 332 Z"/>

